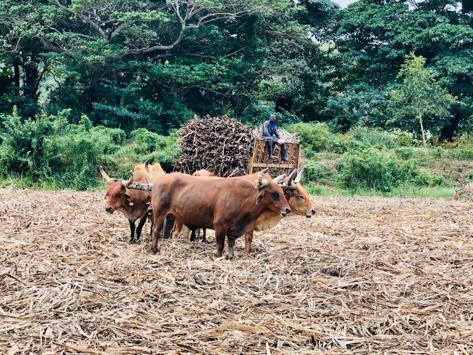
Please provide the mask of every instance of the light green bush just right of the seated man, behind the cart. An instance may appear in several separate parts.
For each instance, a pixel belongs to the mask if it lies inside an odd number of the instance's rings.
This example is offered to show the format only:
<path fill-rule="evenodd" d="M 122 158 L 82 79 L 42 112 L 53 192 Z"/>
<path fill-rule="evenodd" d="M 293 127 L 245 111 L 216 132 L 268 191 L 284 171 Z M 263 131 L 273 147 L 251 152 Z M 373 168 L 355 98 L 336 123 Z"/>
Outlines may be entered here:
<path fill-rule="evenodd" d="M 295 123 L 287 127 L 291 133 L 299 133 L 301 145 L 315 152 L 324 150 L 343 152 L 343 143 L 324 123 Z"/>

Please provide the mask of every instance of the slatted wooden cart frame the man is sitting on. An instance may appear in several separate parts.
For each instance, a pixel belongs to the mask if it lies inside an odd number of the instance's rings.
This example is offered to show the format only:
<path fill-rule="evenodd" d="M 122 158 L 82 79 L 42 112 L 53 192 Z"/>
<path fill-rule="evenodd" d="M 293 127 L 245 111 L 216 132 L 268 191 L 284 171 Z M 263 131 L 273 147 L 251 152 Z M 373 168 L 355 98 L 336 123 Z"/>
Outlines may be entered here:
<path fill-rule="evenodd" d="M 270 175 L 274 178 L 283 173 L 290 174 L 293 169 L 299 166 L 299 154 L 301 151 L 301 144 L 299 143 L 285 143 L 287 163 L 269 162 L 268 142 L 265 140 L 256 139 L 253 147 L 253 155 L 248 158 L 248 174 L 259 172 L 265 168 L 270 168 Z M 281 157 L 281 149 L 276 144 L 273 144 L 273 156 Z"/>

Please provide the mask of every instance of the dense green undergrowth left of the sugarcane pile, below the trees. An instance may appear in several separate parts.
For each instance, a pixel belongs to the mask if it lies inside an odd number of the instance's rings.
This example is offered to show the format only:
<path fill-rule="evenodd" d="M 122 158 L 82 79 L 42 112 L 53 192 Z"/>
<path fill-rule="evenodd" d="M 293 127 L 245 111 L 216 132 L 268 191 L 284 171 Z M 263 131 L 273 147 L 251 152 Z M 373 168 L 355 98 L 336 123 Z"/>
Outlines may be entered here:
<path fill-rule="evenodd" d="M 15 108 L 3 116 L 1 171 L 10 178 L 29 176 L 39 186 L 86 189 L 101 182 L 99 166 L 113 176 L 125 177 L 148 157 L 166 168 L 178 154 L 175 136 L 163 137 L 142 128 L 126 140 L 123 130 L 93 127 L 85 115 L 78 124 L 68 124 L 68 114 L 69 110 L 57 116 L 42 114 L 22 123 Z"/>

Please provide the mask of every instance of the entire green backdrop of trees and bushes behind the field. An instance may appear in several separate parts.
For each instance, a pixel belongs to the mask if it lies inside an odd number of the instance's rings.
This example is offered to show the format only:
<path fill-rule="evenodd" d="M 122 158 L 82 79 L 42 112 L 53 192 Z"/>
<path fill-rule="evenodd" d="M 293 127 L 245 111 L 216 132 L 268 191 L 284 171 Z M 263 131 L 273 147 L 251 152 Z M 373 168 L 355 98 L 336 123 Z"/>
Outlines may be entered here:
<path fill-rule="evenodd" d="M 299 132 L 312 193 L 446 197 L 473 178 L 467 1 L 0 0 L 2 184 L 87 189 L 194 114 Z"/>

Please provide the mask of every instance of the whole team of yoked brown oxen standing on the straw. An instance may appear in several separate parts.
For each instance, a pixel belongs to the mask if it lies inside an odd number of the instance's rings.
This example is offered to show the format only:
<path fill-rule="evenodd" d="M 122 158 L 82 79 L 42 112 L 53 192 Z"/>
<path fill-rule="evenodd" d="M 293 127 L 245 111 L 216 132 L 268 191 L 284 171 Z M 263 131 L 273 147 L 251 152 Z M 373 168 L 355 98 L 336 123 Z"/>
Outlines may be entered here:
<path fill-rule="evenodd" d="M 196 230 L 215 231 L 217 257 L 222 256 L 225 236 L 228 257 L 233 259 L 236 238 L 245 236 L 245 251 L 252 252 L 253 232 L 275 226 L 287 215 L 315 214 L 307 191 L 294 170 L 274 179 L 268 169 L 236 178 L 219 178 L 200 170 L 192 176 L 181 173 L 166 174 L 159 163 L 149 164 L 149 159 L 130 172 L 130 179 L 110 178 L 100 167 L 108 183 L 105 198 L 106 213 L 122 212 L 130 224 L 130 243 L 139 242 L 141 230 L 147 219 L 151 221 L 153 253 L 158 252 L 158 239 L 177 239 L 181 232 L 190 241 Z M 135 227 L 136 220 L 138 226 Z M 192 237 L 190 233 L 192 232 Z"/>

